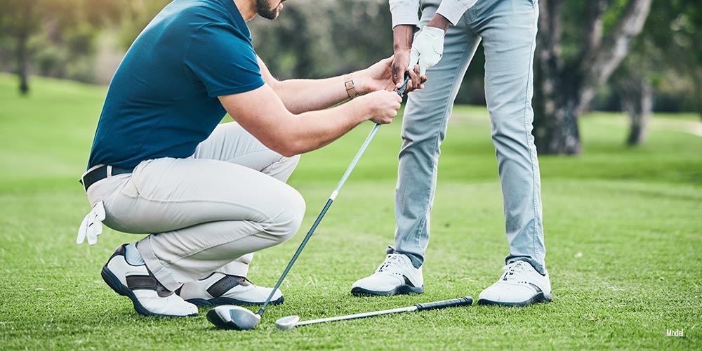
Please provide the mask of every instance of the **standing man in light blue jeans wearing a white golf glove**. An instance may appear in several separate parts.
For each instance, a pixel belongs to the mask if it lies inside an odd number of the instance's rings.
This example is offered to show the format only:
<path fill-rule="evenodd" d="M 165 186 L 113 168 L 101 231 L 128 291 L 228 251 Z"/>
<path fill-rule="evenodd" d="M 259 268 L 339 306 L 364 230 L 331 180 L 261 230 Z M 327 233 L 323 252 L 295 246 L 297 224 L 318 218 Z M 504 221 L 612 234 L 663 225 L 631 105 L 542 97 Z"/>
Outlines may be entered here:
<path fill-rule="evenodd" d="M 378 270 L 355 282 L 351 292 L 393 295 L 424 291 L 422 264 L 429 241 L 439 146 L 446 135 L 458 87 L 482 40 L 485 95 L 510 253 L 505 259 L 505 272 L 480 293 L 478 303 L 529 305 L 550 301 L 540 176 L 531 135 L 536 0 L 390 0 L 390 10 L 395 82 L 415 63 L 421 75 L 426 72 L 428 82 L 423 91 L 409 95 L 404 114 L 395 192 L 395 246 L 388 248 L 388 256 Z M 418 25 L 422 29 L 413 41 Z"/>

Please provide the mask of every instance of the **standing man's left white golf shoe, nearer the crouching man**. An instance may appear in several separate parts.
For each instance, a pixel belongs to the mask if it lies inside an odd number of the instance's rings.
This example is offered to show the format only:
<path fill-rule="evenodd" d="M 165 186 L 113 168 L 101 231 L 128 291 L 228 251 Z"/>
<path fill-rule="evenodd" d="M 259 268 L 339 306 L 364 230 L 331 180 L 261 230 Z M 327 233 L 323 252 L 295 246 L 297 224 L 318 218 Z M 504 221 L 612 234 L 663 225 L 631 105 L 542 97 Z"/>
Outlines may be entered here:
<path fill-rule="evenodd" d="M 390 253 L 375 273 L 357 280 L 351 286 L 351 293 L 355 296 L 390 296 L 423 292 L 422 267 L 415 268 L 409 257 L 402 253 Z"/>

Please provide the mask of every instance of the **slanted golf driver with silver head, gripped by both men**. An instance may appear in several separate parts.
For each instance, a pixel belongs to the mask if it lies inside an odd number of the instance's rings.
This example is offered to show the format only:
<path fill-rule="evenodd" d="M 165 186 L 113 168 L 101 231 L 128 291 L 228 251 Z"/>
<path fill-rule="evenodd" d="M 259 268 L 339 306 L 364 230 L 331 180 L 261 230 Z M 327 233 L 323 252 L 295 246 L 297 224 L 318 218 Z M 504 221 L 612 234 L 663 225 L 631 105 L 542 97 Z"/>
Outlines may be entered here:
<path fill-rule="evenodd" d="M 402 96 L 404 90 L 407 88 L 408 81 L 409 74 L 405 74 L 404 84 L 402 84 L 402 86 L 397 89 L 398 95 Z M 373 140 L 373 136 L 376 135 L 378 128 L 380 128 L 380 124 L 376 124 L 375 126 L 373 126 L 371 133 L 369 133 L 368 137 L 366 137 L 366 141 L 364 141 L 363 145 L 361 145 L 361 149 L 358 150 L 358 152 L 356 153 L 356 157 L 354 157 L 353 161 L 351 161 L 351 164 L 346 169 L 344 176 L 341 177 L 341 180 L 339 180 L 338 185 L 336 185 L 336 189 L 334 189 L 334 191 L 331 193 L 329 200 L 326 201 L 326 205 L 324 205 L 324 208 L 322 208 L 322 212 L 319 213 L 319 216 L 317 216 L 317 220 L 314 220 L 314 224 L 312 224 L 310 231 L 307 232 L 305 239 L 303 239 L 303 242 L 298 247 L 298 251 L 296 251 L 295 255 L 293 255 L 293 258 L 290 260 L 290 263 L 288 263 L 288 267 L 286 267 L 283 271 L 283 274 L 280 276 L 280 279 L 278 279 L 278 282 L 275 284 L 268 298 L 266 298 L 265 303 L 263 303 L 263 306 L 261 306 L 260 310 L 258 310 L 258 313 L 254 314 L 253 312 L 244 307 L 234 305 L 221 305 L 214 307 L 212 310 L 209 310 L 207 312 L 208 321 L 223 329 L 249 330 L 256 328 L 258 322 L 261 319 L 261 316 L 263 316 L 263 312 L 265 312 L 265 307 L 267 307 L 267 305 L 270 303 L 271 298 L 273 298 L 273 294 L 275 293 L 275 291 L 278 290 L 280 284 L 283 282 L 283 279 L 285 279 L 285 276 L 288 275 L 290 267 L 293 266 L 295 260 L 297 260 L 298 256 L 300 256 L 300 252 L 303 251 L 303 249 L 305 248 L 305 244 L 307 244 L 307 241 L 309 241 L 310 237 L 312 237 L 312 233 L 314 233 L 314 230 L 317 229 L 317 225 L 319 225 L 319 222 L 322 222 L 324 214 L 329 209 L 329 206 L 331 206 L 331 203 L 334 201 L 334 199 L 336 199 L 336 195 L 339 194 L 341 187 L 343 187 L 344 183 L 346 183 L 346 180 L 351 175 L 353 168 L 355 168 L 356 164 L 358 163 L 358 160 L 361 159 L 361 156 L 366 151 L 366 147 L 368 147 L 368 145 L 371 143 L 371 140 Z"/>

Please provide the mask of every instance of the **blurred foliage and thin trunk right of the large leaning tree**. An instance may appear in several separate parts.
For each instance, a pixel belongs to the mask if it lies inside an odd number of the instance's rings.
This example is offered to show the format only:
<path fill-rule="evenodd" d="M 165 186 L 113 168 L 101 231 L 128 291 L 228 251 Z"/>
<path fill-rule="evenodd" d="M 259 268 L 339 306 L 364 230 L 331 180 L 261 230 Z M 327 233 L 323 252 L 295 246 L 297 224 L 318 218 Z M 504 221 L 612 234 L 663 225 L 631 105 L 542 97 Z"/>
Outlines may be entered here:
<path fill-rule="evenodd" d="M 601 99 L 630 116 L 628 145 L 646 137 L 652 110 L 702 117 L 702 15 L 697 0 L 654 1 L 631 52 Z M 614 102 L 614 105 L 613 105 Z"/>

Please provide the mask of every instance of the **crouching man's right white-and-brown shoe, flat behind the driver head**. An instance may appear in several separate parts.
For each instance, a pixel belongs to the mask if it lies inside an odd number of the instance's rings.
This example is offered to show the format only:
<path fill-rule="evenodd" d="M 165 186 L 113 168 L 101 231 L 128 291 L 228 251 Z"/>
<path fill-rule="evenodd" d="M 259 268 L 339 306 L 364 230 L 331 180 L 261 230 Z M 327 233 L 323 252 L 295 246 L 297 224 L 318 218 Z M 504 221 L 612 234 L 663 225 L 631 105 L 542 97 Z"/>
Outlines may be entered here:
<path fill-rule="evenodd" d="M 273 288 L 253 285 L 245 277 L 213 273 L 194 282 L 183 284 L 176 293 L 189 303 L 199 306 L 263 305 Z M 270 300 L 272 305 L 283 303 L 280 289 Z"/>

